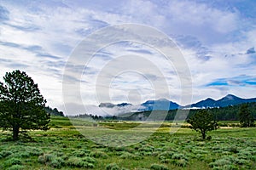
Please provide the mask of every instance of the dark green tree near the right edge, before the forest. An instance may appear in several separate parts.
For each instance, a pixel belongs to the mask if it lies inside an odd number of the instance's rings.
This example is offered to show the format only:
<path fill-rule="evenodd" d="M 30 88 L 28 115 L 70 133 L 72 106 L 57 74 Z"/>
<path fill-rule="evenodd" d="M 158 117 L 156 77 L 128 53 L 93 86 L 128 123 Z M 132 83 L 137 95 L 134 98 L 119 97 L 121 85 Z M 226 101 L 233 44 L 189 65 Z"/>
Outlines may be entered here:
<path fill-rule="evenodd" d="M 241 127 L 254 126 L 253 114 L 249 111 L 247 104 L 241 105 L 240 111 L 238 112 L 238 117 L 240 120 Z"/>

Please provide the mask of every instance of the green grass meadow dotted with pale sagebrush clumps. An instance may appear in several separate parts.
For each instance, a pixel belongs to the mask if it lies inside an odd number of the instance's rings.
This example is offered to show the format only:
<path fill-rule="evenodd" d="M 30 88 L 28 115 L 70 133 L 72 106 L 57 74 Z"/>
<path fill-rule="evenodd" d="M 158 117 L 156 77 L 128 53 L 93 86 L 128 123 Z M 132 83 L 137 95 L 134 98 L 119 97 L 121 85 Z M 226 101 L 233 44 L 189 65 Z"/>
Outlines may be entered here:
<path fill-rule="evenodd" d="M 234 124 L 237 122 L 223 122 Z M 52 117 L 47 132 L 31 131 L 20 141 L 9 141 L 10 133 L 0 133 L 0 169 L 255 169 L 256 128 L 224 127 L 208 133 L 180 128 L 170 134 L 174 123 L 137 127 L 141 122 L 101 122 Z M 102 139 L 96 144 L 76 130 Z M 105 128 L 103 128 L 105 127 Z M 108 127 L 108 128 L 106 128 Z M 111 133 L 105 135 L 106 129 Z M 123 131 L 125 129 L 125 131 Z M 152 135 L 137 143 L 141 134 Z M 124 146 L 134 138 L 134 143 Z M 119 147 L 111 147 L 118 144 Z"/>

